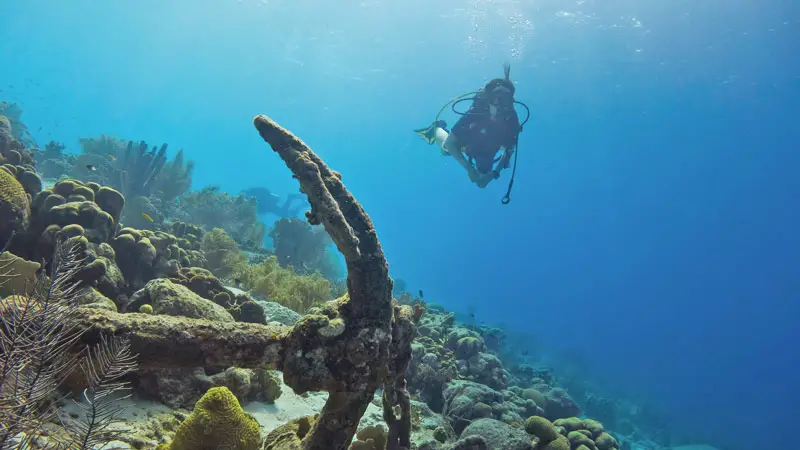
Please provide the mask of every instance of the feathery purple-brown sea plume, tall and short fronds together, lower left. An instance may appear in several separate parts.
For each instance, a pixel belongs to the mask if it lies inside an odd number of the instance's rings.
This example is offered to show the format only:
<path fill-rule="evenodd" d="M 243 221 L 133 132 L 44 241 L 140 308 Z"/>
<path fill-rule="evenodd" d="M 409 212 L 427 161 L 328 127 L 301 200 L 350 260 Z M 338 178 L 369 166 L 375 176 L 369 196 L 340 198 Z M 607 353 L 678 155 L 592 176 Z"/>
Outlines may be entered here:
<path fill-rule="evenodd" d="M 83 426 L 71 426 L 73 442 L 63 446 L 91 448 L 117 417 L 105 405 L 134 367 L 129 345 L 104 339 L 87 352 L 73 351 L 84 332 L 74 281 L 82 255 L 78 241 L 59 237 L 50 278 L 38 275 L 29 296 L 0 300 L 0 449 L 28 448 L 41 427 L 56 420 L 58 388 L 81 366 L 89 377 L 85 395 L 91 415 Z M 11 263 L 0 267 L 0 283 L 13 276 Z"/>

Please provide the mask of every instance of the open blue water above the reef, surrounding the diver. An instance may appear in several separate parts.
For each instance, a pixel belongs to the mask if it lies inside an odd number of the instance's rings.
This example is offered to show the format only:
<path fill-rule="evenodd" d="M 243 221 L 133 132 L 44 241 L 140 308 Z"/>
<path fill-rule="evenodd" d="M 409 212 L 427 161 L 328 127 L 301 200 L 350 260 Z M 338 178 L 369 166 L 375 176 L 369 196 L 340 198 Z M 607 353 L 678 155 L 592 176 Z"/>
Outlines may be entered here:
<path fill-rule="evenodd" d="M 427 300 L 578 352 L 720 447 L 778 448 L 800 420 L 800 8 L 431 5 L 2 0 L 0 99 L 40 144 L 168 142 L 195 187 L 295 192 L 268 114 Z M 533 116 L 503 206 L 508 172 L 478 189 L 411 130 L 506 60 Z"/>

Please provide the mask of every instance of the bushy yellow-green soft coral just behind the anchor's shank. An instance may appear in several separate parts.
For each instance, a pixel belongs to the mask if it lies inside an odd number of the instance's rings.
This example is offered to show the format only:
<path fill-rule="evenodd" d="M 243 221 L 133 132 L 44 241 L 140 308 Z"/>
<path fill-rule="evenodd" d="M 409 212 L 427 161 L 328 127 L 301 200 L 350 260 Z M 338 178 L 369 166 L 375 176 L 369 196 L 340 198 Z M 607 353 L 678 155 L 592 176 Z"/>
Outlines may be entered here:
<path fill-rule="evenodd" d="M 319 273 L 298 275 L 270 256 L 259 265 L 239 264 L 233 275 L 254 293 L 304 313 L 331 299 L 331 282 Z"/>

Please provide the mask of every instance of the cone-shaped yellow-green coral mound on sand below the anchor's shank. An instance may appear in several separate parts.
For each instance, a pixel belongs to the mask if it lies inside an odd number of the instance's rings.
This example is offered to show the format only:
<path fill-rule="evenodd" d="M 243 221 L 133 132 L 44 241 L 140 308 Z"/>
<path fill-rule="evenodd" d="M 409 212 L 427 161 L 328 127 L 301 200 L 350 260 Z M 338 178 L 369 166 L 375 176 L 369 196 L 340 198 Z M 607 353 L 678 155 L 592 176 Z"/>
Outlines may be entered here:
<path fill-rule="evenodd" d="M 157 450 L 260 450 L 261 430 L 226 387 L 214 387 L 198 400 L 170 444 Z"/>

